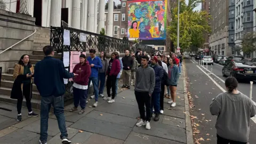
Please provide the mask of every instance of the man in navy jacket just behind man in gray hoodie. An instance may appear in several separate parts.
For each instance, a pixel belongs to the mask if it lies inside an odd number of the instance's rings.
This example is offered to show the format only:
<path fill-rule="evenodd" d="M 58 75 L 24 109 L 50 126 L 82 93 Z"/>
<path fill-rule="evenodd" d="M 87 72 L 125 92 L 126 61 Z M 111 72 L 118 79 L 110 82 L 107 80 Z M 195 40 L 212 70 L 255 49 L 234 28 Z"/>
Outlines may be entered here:
<path fill-rule="evenodd" d="M 157 63 L 157 57 L 151 57 L 151 66 L 155 71 L 155 88 L 152 93 L 151 100 L 151 110 L 153 110 L 153 106 L 155 109 L 155 118 L 154 121 L 159 121 L 159 113 L 160 113 L 160 93 L 161 93 L 161 81 L 164 76 L 164 69 L 159 66 Z"/>

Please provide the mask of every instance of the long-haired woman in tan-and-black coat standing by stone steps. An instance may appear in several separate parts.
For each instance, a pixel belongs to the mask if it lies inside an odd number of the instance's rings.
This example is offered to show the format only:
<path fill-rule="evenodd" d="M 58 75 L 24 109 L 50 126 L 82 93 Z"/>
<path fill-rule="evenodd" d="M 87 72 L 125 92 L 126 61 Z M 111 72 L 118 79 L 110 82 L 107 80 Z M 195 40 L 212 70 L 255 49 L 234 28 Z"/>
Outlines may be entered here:
<path fill-rule="evenodd" d="M 38 114 L 32 111 L 31 98 L 32 98 L 32 81 L 34 76 L 34 67 L 29 61 L 29 56 L 23 54 L 14 67 L 13 78 L 15 79 L 12 87 L 11 98 L 17 99 L 17 121 L 22 121 L 21 108 L 23 102 L 23 96 L 26 99 L 26 105 L 28 108 L 28 117 L 37 117 Z"/>

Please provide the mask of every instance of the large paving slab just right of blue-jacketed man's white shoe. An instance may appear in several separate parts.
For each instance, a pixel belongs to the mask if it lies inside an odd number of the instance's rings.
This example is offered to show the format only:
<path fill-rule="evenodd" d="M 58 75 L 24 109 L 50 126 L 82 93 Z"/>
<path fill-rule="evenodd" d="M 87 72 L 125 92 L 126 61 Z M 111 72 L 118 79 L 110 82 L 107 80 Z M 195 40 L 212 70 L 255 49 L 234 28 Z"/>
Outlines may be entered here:
<path fill-rule="evenodd" d="M 71 125 L 75 129 L 106 135 L 108 137 L 125 140 L 132 131 L 131 127 L 113 124 L 98 119 L 83 117 Z"/>

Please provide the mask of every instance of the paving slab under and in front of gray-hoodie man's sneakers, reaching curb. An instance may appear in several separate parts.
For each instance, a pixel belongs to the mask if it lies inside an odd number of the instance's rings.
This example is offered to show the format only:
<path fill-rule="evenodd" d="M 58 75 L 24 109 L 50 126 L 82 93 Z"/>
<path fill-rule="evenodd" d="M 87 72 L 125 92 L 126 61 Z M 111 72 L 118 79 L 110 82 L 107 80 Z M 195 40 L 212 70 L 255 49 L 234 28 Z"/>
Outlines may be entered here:
<path fill-rule="evenodd" d="M 154 137 L 186 143 L 186 130 L 181 127 L 154 122 L 150 122 L 150 126 L 150 130 L 146 130 L 145 126 L 134 126 L 133 131 L 137 133 L 152 135 Z"/>

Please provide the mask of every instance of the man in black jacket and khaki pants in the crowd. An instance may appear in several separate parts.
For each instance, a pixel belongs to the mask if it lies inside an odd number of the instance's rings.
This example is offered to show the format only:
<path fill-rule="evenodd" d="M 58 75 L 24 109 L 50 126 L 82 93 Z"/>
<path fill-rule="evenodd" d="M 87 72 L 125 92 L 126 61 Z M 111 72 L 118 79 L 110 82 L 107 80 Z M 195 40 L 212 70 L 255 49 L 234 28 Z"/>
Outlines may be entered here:
<path fill-rule="evenodd" d="M 130 52 L 128 50 L 125 51 L 125 57 L 122 58 L 123 62 L 123 80 L 124 80 L 124 85 L 122 88 L 127 88 L 131 89 L 130 87 L 130 78 L 131 78 L 131 69 L 133 65 L 133 59 L 130 55 Z"/>

